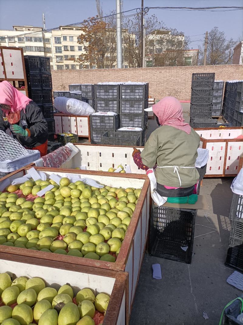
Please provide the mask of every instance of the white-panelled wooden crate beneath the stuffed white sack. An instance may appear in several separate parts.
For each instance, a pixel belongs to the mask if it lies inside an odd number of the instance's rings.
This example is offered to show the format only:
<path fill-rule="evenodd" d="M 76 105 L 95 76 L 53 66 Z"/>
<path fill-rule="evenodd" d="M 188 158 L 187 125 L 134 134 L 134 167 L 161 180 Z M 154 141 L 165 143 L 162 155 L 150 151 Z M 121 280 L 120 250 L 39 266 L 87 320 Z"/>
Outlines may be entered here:
<path fill-rule="evenodd" d="M 87 137 L 90 142 L 89 116 L 54 114 L 56 133 L 70 132 Z"/>

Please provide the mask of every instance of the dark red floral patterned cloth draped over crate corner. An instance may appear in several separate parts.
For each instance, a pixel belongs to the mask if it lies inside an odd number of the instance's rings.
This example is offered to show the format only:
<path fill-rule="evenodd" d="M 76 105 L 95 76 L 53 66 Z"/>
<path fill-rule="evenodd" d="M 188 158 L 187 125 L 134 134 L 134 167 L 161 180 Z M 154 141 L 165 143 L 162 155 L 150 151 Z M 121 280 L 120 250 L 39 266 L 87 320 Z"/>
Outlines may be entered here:
<path fill-rule="evenodd" d="M 42 157 L 44 167 L 60 168 L 71 156 L 72 150 L 66 146 L 56 149 Z"/>

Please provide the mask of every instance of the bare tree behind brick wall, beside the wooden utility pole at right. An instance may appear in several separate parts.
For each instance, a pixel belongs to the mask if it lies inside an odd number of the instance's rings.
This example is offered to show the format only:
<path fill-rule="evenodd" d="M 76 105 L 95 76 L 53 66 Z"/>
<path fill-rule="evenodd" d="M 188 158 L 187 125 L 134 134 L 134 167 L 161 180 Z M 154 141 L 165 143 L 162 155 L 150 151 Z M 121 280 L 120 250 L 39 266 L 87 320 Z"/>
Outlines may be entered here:
<path fill-rule="evenodd" d="M 232 38 L 226 39 L 225 32 L 219 31 L 218 27 L 214 27 L 208 33 L 208 46 L 207 46 L 207 65 L 227 64 L 233 47 L 236 42 Z M 203 65 L 204 47 L 199 46 L 199 64 Z"/>

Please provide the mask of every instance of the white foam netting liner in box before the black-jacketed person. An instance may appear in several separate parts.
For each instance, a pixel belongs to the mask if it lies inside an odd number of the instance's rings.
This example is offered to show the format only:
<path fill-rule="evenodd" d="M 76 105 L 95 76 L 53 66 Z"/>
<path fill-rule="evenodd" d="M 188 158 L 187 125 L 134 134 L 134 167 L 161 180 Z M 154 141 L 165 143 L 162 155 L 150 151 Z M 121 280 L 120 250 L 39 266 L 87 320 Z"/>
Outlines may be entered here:
<path fill-rule="evenodd" d="M 13 172 L 41 156 L 39 150 L 25 149 L 17 140 L 0 131 L 0 171 Z"/>

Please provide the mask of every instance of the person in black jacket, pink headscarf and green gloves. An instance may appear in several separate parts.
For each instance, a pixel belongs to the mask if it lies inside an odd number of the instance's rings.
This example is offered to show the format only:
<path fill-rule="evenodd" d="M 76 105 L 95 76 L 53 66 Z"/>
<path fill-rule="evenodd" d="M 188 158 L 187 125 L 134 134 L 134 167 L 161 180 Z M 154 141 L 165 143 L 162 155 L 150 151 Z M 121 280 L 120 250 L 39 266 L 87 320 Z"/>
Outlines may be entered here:
<path fill-rule="evenodd" d="M 14 88 L 8 81 L 0 83 L 0 130 L 10 129 L 14 138 L 27 149 L 47 154 L 47 122 L 32 99 Z"/>

